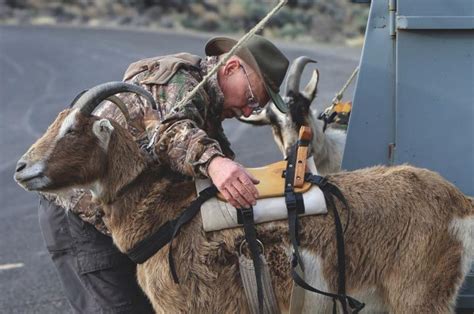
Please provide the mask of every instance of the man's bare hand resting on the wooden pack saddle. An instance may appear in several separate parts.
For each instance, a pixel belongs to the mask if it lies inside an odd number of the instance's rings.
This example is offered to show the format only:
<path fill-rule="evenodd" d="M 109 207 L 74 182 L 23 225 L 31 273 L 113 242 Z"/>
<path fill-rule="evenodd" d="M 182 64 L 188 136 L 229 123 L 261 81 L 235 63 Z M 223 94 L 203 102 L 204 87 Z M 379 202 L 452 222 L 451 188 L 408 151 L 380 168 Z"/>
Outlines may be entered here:
<path fill-rule="evenodd" d="M 257 203 L 255 184 L 260 181 L 240 164 L 218 156 L 211 160 L 207 172 L 219 192 L 235 208 L 249 208 Z"/>

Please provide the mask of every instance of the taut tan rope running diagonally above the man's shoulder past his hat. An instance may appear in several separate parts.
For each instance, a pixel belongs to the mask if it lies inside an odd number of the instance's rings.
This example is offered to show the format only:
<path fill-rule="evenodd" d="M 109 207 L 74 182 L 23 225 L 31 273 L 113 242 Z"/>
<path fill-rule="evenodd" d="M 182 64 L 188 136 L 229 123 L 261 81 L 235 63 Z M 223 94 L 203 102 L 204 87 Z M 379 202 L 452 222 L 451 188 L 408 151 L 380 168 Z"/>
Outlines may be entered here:
<path fill-rule="evenodd" d="M 236 51 L 243 45 L 245 44 L 253 35 L 255 35 L 256 32 L 258 32 L 259 30 L 261 30 L 265 24 L 268 22 L 268 20 L 270 20 L 270 18 L 276 14 L 276 12 L 278 10 L 280 10 L 281 7 L 283 7 L 285 4 L 286 4 L 286 1 L 287 0 L 280 0 L 280 2 L 270 11 L 268 12 L 268 14 L 257 24 L 255 25 L 250 31 L 247 32 L 247 34 L 245 34 L 242 38 L 240 38 L 240 40 L 237 42 L 237 44 L 235 44 L 234 47 L 232 47 L 232 49 L 225 55 L 224 58 L 222 58 L 222 60 L 220 60 L 216 66 L 214 66 L 212 68 L 211 71 L 209 71 L 209 73 L 207 73 L 207 75 L 203 78 L 203 80 L 194 87 L 193 90 L 191 90 L 189 93 L 186 94 L 186 97 L 184 97 L 183 100 L 181 100 L 179 103 L 178 103 L 178 108 L 184 106 L 186 103 L 188 103 L 193 97 L 194 95 L 197 93 L 197 91 L 204 86 L 204 84 L 207 83 L 207 81 L 209 80 L 209 78 L 211 76 L 213 76 L 217 70 L 219 69 L 219 67 L 221 67 L 224 63 L 227 62 L 227 60 L 230 59 L 230 57 L 232 57 Z"/>

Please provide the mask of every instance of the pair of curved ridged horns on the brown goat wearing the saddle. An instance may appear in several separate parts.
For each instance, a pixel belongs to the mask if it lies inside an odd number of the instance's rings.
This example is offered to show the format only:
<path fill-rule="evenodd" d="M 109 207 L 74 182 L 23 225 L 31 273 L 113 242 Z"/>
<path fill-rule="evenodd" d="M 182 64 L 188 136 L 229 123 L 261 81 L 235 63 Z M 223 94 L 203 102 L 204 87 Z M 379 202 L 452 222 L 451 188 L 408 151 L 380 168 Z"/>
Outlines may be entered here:
<path fill-rule="evenodd" d="M 153 96 L 147 90 L 140 86 L 125 82 L 108 82 L 92 87 L 87 92 L 82 94 L 79 99 L 77 99 L 74 104 L 74 108 L 79 108 L 81 113 L 84 115 L 91 115 L 94 109 L 97 108 L 97 106 L 99 106 L 102 101 L 108 99 L 116 104 L 117 107 L 119 107 L 128 120 L 128 111 L 126 110 L 123 102 L 117 102 L 116 98 L 111 97 L 118 93 L 127 92 L 135 93 L 145 97 L 145 99 L 150 102 L 154 109 L 157 108 Z"/>

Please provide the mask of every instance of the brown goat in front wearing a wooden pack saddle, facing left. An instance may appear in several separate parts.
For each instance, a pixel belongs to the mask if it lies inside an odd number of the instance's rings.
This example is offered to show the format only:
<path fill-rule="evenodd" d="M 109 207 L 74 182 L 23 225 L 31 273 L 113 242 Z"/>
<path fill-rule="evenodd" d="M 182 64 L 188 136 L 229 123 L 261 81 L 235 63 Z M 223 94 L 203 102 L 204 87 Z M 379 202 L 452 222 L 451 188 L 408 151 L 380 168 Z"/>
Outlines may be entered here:
<path fill-rule="evenodd" d="M 190 203 L 194 184 L 151 163 L 118 123 L 91 115 L 110 92 L 97 95 L 92 107 L 86 93 L 78 101 L 83 107 L 58 115 L 20 159 L 15 179 L 29 191 L 89 188 L 103 206 L 115 244 L 127 252 Z M 343 172 L 328 180 L 351 206 L 347 293 L 365 302 L 368 312 L 453 312 L 473 257 L 473 200 L 438 174 L 407 165 Z M 340 214 L 346 224 L 348 212 Z M 292 286 L 287 222 L 261 224 L 257 233 L 285 311 Z M 307 281 L 335 292 L 332 213 L 302 217 L 300 235 Z M 196 217 L 174 242 L 180 285 L 170 276 L 168 247 L 138 265 L 138 282 L 156 312 L 248 312 L 236 255 L 242 239 L 241 228 L 206 234 Z M 307 293 L 304 311 L 327 313 L 331 305 Z"/>

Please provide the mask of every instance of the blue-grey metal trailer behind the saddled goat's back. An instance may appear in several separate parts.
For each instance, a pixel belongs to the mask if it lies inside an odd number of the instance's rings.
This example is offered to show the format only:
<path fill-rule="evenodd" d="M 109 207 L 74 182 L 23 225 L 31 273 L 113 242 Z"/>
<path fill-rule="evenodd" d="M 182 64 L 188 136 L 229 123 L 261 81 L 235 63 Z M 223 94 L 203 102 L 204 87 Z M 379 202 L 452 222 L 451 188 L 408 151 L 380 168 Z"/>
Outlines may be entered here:
<path fill-rule="evenodd" d="M 473 0 L 373 0 L 342 168 L 409 163 L 474 195 L 473 55 Z"/>

